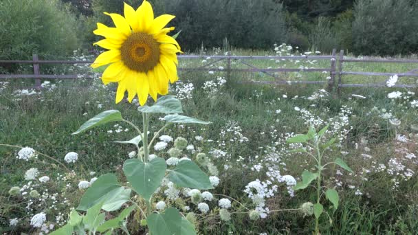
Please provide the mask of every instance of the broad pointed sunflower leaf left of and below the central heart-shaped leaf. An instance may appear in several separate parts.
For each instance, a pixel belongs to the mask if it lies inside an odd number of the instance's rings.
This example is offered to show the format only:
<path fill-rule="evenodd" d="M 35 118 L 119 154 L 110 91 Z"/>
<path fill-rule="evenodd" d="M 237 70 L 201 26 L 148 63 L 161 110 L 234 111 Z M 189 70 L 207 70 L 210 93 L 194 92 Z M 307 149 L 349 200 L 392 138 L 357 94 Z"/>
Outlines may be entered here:
<path fill-rule="evenodd" d="M 87 210 L 98 203 L 111 203 L 124 189 L 115 175 L 102 175 L 83 194 L 77 210 Z"/>

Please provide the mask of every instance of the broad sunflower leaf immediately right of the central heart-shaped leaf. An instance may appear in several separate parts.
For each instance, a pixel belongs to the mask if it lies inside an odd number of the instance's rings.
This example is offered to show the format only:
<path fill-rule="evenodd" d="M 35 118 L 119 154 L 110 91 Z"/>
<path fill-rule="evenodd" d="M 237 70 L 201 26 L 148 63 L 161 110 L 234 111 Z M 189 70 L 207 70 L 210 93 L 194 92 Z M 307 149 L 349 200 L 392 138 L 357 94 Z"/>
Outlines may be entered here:
<path fill-rule="evenodd" d="M 208 175 L 193 161 L 180 161 L 168 174 L 168 179 L 177 186 L 196 189 L 213 188 Z"/>

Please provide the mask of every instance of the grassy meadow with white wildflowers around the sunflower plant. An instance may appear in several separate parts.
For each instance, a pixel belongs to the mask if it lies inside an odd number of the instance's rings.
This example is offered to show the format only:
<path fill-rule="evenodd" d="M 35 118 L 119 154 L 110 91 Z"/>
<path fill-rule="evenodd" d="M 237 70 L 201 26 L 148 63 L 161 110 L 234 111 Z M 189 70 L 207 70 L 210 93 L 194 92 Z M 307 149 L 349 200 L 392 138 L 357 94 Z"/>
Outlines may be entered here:
<path fill-rule="evenodd" d="M 236 51 L 236 54 L 245 53 Z M 287 67 L 299 66 L 294 61 L 280 63 L 286 63 Z M 322 63 L 306 66 L 329 66 L 329 61 Z M 282 66 L 275 61 L 254 61 L 253 65 Z M 225 65 L 214 65 L 218 66 Z M 344 66 L 344 69 L 401 72 L 414 69 L 413 66 L 356 63 Z M 89 70 L 72 69 L 80 73 Z M 99 76 L 92 72 L 88 75 Z M 217 199 L 228 196 L 239 201 L 231 200 L 232 219 L 221 221 L 219 206 L 214 201 L 208 202 L 210 212 L 207 214 L 199 212 L 188 199 L 170 201 L 162 194 L 157 201 L 164 200 L 178 208 L 188 205 L 196 214 L 195 225 L 201 234 L 309 234 L 314 230 L 314 217 L 300 210 L 287 209 L 298 209 L 303 203 L 313 201 L 316 190 L 307 188 L 293 195 L 292 187 L 285 181 L 272 180 L 269 174 L 279 172 L 281 176 L 290 175 L 300 181 L 303 170 L 312 168 L 312 161 L 306 154 L 289 153 L 296 147 L 287 144 L 286 139 L 296 133 L 307 133 L 309 126 L 318 130 L 330 124 L 327 137 L 338 140 L 325 153 L 325 161 L 340 157 L 354 172 L 335 166 L 325 170 L 323 185 L 338 190 L 340 205 L 334 210 L 331 203 L 325 203 L 329 216 L 320 217 L 322 234 L 417 234 L 418 107 L 414 102 L 418 100 L 417 90 L 343 89 L 341 95 L 336 96 L 323 90 L 326 85 L 273 87 L 234 82 L 269 79 L 263 74 L 234 73 L 226 83 L 219 79 L 221 76 L 224 76 L 222 72 L 181 75 L 183 82 L 174 85 L 170 93 L 182 99 L 186 115 L 211 124 L 170 126 L 162 135 L 188 139 L 194 150 L 184 150 L 185 156 L 192 158 L 197 153 L 210 156 L 220 179 L 219 186 L 210 192 Z M 327 80 L 329 74 L 280 76 Z M 347 76 L 344 79 L 359 81 L 365 78 Z M 20 148 L 0 146 L 0 231 L 5 234 L 45 232 L 30 226 L 30 219 L 39 212 L 47 216 L 46 227 L 63 225 L 70 208 L 78 205 L 84 192 L 78 188 L 80 181 L 89 181 L 108 172 L 122 175 L 124 160 L 136 149 L 114 141 L 131 139 L 134 135 L 131 127 L 124 123 L 115 126 L 114 123 L 82 135 L 70 135 L 81 124 L 108 109 L 118 109 L 126 120 L 138 125 L 142 123 L 137 104 L 114 104 L 115 86 L 104 87 L 98 79 L 58 82 L 56 87 L 45 85 L 45 89 L 30 95 L 19 89 L 26 85 L 21 82 L 0 84 L 0 144 L 29 146 L 49 157 L 39 155 L 36 161 L 24 161 L 17 159 Z M 393 91 L 400 91 L 401 97 L 388 98 L 388 93 Z M 154 116 L 151 123 L 151 133 L 162 126 L 158 116 Z M 171 145 L 168 143 L 168 148 Z M 166 156 L 164 151 L 154 152 Z M 64 161 L 69 152 L 78 153 L 78 161 L 74 164 Z M 51 180 L 47 183 L 25 180 L 25 172 L 30 168 L 39 170 L 38 178 L 45 175 Z M 274 195 L 265 198 L 264 208 L 270 210 L 267 217 L 253 221 L 246 208 L 254 210 L 255 206 L 245 188 L 257 179 L 272 181 L 266 188 Z M 20 195 L 10 195 L 13 186 L 22 189 Z M 33 189 L 41 194 L 40 198 L 22 193 Z M 112 214 L 108 216 L 111 218 Z M 14 218 L 19 222 L 11 226 L 10 220 Z M 144 232 L 139 220 L 138 213 L 129 218 L 131 234 Z"/>

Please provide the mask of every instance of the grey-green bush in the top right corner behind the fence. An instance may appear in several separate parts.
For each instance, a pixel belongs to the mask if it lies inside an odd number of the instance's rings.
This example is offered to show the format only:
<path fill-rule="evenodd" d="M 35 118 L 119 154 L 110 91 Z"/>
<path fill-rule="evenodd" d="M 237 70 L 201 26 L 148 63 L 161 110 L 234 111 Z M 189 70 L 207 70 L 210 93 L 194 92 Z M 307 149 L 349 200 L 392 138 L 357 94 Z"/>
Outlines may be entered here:
<path fill-rule="evenodd" d="M 417 1 L 356 1 L 352 31 L 355 54 L 418 52 L 417 12 Z"/>

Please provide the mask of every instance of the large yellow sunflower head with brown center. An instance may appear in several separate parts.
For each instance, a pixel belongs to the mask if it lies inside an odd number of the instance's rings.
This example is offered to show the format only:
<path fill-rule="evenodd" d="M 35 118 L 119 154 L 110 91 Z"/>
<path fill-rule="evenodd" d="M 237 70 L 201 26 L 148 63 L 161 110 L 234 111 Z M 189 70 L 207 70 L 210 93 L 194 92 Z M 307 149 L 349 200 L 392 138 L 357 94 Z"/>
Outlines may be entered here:
<path fill-rule="evenodd" d="M 105 39 L 94 43 L 107 52 L 100 54 L 91 67 L 109 65 L 102 74 L 104 85 L 118 82 L 116 103 L 128 91 L 128 101 L 137 95 L 141 105 L 148 95 L 157 100 L 158 94 L 168 93 L 168 81 L 178 80 L 177 53 L 181 53 L 179 43 L 167 33 L 174 27 L 166 27 L 175 16 L 163 14 L 154 19 L 151 4 L 144 0 L 135 11 L 124 3 L 124 16 L 109 14 L 115 27 L 97 23 L 94 34 Z"/>

